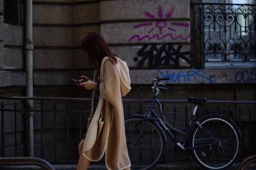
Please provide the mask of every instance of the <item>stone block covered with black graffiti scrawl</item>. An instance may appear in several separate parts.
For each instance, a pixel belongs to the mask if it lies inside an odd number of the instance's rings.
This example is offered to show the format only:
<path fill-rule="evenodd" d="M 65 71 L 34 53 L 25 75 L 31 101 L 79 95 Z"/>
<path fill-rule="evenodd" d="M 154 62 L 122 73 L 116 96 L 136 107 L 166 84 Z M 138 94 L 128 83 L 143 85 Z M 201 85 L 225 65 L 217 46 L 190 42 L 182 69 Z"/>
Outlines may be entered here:
<path fill-rule="evenodd" d="M 129 67 L 191 67 L 189 45 L 111 46 L 111 51 L 124 59 Z"/>

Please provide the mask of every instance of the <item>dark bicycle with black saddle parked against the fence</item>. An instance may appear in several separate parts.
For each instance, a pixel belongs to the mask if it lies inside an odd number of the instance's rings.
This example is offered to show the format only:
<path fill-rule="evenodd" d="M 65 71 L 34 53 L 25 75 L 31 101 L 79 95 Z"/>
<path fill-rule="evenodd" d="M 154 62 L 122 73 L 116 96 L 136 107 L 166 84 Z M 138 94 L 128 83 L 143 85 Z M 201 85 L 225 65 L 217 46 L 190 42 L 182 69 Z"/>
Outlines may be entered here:
<path fill-rule="evenodd" d="M 150 108 L 143 114 L 134 114 L 125 120 L 127 148 L 131 159 L 131 169 L 152 169 L 163 155 L 168 134 L 182 151 L 192 151 L 196 162 L 206 169 L 224 169 L 234 162 L 239 148 L 241 132 L 230 118 L 219 114 L 209 114 L 196 118 L 198 106 L 206 98 L 188 97 L 195 103 L 186 131 L 180 131 L 170 125 L 163 115 L 162 104 L 157 99 L 160 90 L 168 90 L 163 80 L 156 77 L 153 81 Z M 154 110 L 158 104 L 160 116 Z M 184 135 L 182 141 L 175 138 L 173 132 Z"/>

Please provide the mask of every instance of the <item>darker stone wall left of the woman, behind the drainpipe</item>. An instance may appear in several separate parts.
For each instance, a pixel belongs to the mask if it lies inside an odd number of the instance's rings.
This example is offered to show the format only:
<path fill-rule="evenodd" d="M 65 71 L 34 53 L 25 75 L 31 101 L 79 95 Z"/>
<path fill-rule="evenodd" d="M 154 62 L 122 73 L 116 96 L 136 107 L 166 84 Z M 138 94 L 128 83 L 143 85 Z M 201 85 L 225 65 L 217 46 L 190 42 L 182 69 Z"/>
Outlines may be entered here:
<path fill-rule="evenodd" d="M 0 6 L 0 10 L 3 10 L 2 0 Z M 20 8 L 23 6 L 20 3 Z M 4 96 L 13 94 L 8 92 L 12 87 L 26 86 L 24 19 L 20 25 L 12 25 L 4 24 L 3 16 L 0 16 L 0 71 L 3 72 L 0 74 L 0 85 L 5 86 L 0 91 Z M 73 85 L 71 78 L 78 78 L 82 74 L 92 77 L 92 67 L 80 45 L 81 38 L 88 30 L 100 31 L 100 1 L 33 1 L 35 96 L 42 95 L 42 86 L 45 87 L 44 96 L 51 96 L 49 91 L 52 90 L 65 96 L 70 92 L 64 94 L 60 86 L 69 87 L 68 91 L 76 91 L 76 87 L 70 87 Z M 8 81 L 5 81 L 6 76 L 9 76 Z M 17 94 L 20 94 L 19 90 L 17 88 Z"/>

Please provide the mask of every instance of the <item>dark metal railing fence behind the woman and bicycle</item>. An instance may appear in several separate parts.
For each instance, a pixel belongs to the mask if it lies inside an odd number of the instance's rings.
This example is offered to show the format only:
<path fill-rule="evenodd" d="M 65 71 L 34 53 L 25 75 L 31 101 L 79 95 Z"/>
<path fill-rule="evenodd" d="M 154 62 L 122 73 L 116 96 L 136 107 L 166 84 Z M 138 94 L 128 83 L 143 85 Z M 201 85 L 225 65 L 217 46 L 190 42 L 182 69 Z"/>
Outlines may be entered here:
<path fill-rule="evenodd" d="M 28 99 L 34 101 L 30 108 Z M 86 111 L 91 99 L 50 97 L 0 97 L 0 157 L 29 156 L 29 115 L 34 116 L 35 157 L 51 163 L 77 162 L 77 145 L 86 131 Z M 124 99 L 125 117 L 143 113 L 150 100 Z M 161 100 L 164 115 L 173 127 L 186 129 L 193 109 L 187 100 Z M 200 115 L 221 113 L 232 118 L 243 134 L 240 158 L 252 155 L 255 147 L 256 101 L 208 101 Z M 156 108 L 157 111 L 157 108 Z M 177 136 L 181 138 L 181 136 Z M 180 152 L 168 139 L 162 163 L 188 161 L 189 152 Z"/>

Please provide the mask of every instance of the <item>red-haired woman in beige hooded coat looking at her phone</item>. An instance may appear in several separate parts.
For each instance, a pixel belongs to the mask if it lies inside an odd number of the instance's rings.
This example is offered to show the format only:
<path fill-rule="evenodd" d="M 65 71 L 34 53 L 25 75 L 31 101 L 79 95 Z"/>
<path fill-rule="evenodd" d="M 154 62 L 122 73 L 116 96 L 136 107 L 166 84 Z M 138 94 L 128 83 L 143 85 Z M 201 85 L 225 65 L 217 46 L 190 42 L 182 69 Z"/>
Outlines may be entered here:
<path fill-rule="evenodd" d="M 129 68 L 126 62 L 110 52 L 102 36 L 88 31 L 82 39 L 82 48 L 95 68 L 94 78 L 81 87 L 93 89 L 93 115 L 85 139 L 79 143 L 77 170 L 88 169 L 90 161 L 100 160 L 104 153 L 108 169 L 130 169 L 127 152 L 122 96 L 130 90 Z"/>

